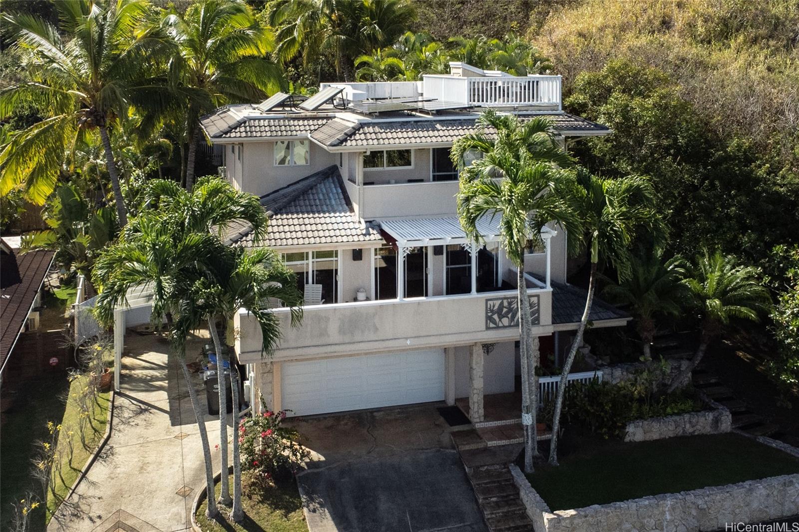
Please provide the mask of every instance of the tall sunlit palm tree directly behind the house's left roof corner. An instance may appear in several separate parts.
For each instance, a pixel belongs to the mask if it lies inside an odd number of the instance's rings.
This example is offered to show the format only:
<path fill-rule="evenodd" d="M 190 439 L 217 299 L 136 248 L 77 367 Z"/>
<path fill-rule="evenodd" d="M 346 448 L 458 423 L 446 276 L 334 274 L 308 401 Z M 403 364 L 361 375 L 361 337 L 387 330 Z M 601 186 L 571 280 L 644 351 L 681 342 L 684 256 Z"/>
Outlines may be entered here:
<path fill-rule="evenodd" d="M 272 34 L 260 26 L 250 7 L 238 0 L 203 0 L 180 14 L 165 10 L 158 34 L 169 50 L 170 81 L 185 109 L 173 120 L 187 143 L 186 189 L 194 185 L 200 117 L 229 102 L 248 102 L 276 92 L 282 70 L 268 58 Z M 151 125 L 155 125 L 154 123 Z"/>

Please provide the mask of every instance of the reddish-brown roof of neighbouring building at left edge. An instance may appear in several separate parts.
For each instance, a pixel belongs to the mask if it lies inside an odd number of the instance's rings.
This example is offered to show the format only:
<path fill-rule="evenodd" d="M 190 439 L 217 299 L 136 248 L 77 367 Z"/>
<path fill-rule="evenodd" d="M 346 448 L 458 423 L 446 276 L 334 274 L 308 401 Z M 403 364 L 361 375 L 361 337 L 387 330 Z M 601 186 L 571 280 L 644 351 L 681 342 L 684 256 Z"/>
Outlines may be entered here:
<path fill-rule="evenodd" d="M 14 261 L 11 264 L 15 263 L 19 271 L 19 281 L 2 288 L 0 296 L 0 371 L 5 367 L 17 336 L 25 327 L 30 306 L 53 263 L 53 255 L 50 251 L 34 251 L 24 255 L 5 250 L 0 253 L 0 261 L 6 264 Z M 4 271 L 8 268 L 6 264 L 3 264 Z"/>

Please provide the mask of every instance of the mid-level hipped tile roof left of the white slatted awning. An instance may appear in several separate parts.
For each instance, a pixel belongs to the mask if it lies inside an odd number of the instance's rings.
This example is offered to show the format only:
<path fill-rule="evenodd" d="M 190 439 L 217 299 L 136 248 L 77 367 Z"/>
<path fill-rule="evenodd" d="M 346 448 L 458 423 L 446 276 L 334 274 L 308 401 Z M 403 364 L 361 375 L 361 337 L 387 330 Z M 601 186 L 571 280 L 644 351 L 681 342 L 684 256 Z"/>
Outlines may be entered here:
<path fill-rule="evenodd" d="M 261 197 L 268 209 L 266 239 L 257 243 L 252 227 L 228 228 L 228 244 L 245 247 L 297 246 L 380 241 L 377 225 L 355 215 L 336 165 Z"/>

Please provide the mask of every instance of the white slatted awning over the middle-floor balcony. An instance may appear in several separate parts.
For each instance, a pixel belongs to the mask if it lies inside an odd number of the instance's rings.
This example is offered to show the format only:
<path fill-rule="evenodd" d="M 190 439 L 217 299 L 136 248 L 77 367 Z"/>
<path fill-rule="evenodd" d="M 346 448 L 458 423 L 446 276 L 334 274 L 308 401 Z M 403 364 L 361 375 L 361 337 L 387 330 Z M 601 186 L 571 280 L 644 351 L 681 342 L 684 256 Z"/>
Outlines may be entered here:
<path fill-rule="evenodd" d="M 477 230 L 486 242 L 502 240 L 499 233 L 501 216 L 483 216 L 477 220 Z M 380 220 L 380 228 L 396 240 L 401 248 L 417 246 L 438 246 L 445 244 L 468 244 L 471 242 L 463 232 L 457 216 L 441 218 L 404 218 Z M 555 230 L 545 227 L 541 232 L 544 239 L 555 236 Z"/>

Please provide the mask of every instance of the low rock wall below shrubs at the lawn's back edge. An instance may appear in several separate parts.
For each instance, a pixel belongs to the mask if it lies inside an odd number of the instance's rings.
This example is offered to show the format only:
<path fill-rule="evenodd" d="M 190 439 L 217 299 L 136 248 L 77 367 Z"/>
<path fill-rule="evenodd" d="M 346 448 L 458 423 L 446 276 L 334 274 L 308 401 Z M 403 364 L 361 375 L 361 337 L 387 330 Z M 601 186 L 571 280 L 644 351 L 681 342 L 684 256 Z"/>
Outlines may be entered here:
<path fill-rule="evenodd" d="M 713 410 L 668 415 L 663 418 L 635 419 L 627 423 L 624 441 L 648 442 L 676 436 L 721 434 L 731 431 L 732 428 L 732 415 L 729 410 L 719 405 Z"/>

